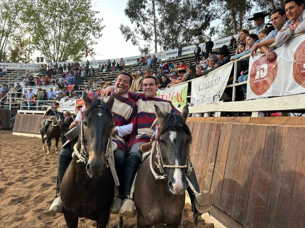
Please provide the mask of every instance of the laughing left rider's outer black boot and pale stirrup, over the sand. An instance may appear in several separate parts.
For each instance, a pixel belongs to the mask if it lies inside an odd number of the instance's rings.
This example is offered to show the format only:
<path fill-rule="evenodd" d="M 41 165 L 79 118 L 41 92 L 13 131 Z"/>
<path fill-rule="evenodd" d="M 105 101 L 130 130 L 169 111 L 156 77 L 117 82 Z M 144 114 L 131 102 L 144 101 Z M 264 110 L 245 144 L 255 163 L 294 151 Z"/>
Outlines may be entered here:
<path fill-rule="evenodd" d="M 57 190 L 56 193 L 60 190 L 61 182 L 63 181 L 63 175 L 65 174 L 66 169 L 68 168 L 70 164 L 71 157 L 65 156 L 61 153 L 59 153 L 58 157 L 58 171 L 57 171 Z M 59 194 L 56 194 L 56 198 L 52 202 L 49 211 L 56 211 L 58 213 L 63 213 L 63 203 L 60 199 Z"/>

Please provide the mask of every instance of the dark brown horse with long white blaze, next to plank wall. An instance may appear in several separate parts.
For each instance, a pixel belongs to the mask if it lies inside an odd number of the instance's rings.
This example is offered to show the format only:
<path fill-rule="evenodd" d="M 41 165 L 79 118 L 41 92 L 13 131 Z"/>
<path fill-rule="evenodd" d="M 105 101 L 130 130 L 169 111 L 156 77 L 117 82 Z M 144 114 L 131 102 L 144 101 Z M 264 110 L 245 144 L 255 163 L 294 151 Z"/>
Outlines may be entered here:
<path fill-rule="evenodd" d="M 185 166 L 188 144 L 192 138 L 185 124 L 188 106 L 183 108 L 181 116 L 177 113 L 164 115 L 156 105 L 155 109 L 160 122 L 157 140 L 162 160 L 164 165 L 176 168 L 165 167 L 167 178 L 156 180 L 150 170 L 149 158 L 143 161 L 135 180 L 136 227 L 148 228 L 157 223 L 164 223 L 167 227 L 174 228 L 181 222 L 185 190 L 188 187 Z M 155 162 L 158 163 L 156 150 L 153 153 L 153 168 L 158 175 L 162 175 Z"/>

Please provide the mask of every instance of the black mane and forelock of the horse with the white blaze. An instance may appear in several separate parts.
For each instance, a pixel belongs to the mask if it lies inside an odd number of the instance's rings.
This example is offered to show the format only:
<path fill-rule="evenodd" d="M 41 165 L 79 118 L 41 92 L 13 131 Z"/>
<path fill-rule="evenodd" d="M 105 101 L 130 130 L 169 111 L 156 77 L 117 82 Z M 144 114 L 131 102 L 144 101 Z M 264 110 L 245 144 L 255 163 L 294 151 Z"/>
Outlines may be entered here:
<path fill-rule="evenodd" d="M 179 132 L 185 132 L 190 137 L 190 141 L 192 141 L 192 133 L 178 113 L 166 112 L 164 115 L 157 139 L 159 139 L 160 135 L 164 134 L 168 130 L 176 130 Z"/>

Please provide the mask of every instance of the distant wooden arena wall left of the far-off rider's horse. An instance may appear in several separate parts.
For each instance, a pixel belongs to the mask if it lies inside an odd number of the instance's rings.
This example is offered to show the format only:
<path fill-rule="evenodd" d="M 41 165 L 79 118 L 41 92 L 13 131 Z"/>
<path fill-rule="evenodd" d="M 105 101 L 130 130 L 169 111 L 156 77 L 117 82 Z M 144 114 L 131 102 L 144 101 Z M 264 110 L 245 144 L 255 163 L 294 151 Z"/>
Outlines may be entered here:
<path fill-rule="evenodd" d="M 42 116 L 39 114 L 18 113 L 15 118 L 13 132 L 40 134 Z"/>

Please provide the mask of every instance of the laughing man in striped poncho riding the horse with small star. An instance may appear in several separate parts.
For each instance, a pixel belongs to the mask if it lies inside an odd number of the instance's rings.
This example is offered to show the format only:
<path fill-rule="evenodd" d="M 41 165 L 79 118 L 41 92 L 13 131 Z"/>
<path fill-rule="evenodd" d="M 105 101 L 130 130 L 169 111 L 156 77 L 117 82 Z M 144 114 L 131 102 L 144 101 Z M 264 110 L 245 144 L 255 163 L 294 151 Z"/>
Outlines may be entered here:
<path fill-rule="evenodd" d="M 125 142 L 125 136 L 129 135 L 132 131 L 133 120 L 135 117 L 136 103 L 133 99 L 131 99 L 128 95 L 128 91 L 130 89 L 132 82 L 132 77 L 130 74 L 126 72 L 121 72 L 118 74 L 115 90 L 114 90 L 114 103 L 111 112 L 113 113 L 113 120 L 115 127 L 112 130 L 112 137 L 115 146 L 113 147 L 114 151 L 114 162 L 115 169 L 117 172 L 117 176 L 120 182 L 119 195 L 123 196 L 123 187 L 124 187 L 124 167 L 125 167 L 125 154 L 127 152 L 127 146 Z M 99 96 L 98 92 L 88 93 L 88 96 L 93 99 Z M 106 99 L 107 100 L 107 99 Z M 85 111 L 85 107 L 81 109 L 81 112 L 77 113 L 77 117 L 71 123 L 70 129 L 74 128 L 81 122 L 81 113 Z M 100 114 L 100 113 L 98 113 Z M 63 175 L 70 163 L 72 148 L 70 146 L 66 146 L 59 153 L 59 161 L 58 161 L 58 191 L 60 189 L 60 184 L 63 179 Z M 117 202 L 114 203 L 114 207 L 112 209 L 112 213 L 118 213 L 120 210 L 120 204 L 122 200 L 120 198 L 116 199 Z M 63 206 L 60 201 L 60 197 L 53 201 L 49 210 L 63 212 Z"/>

